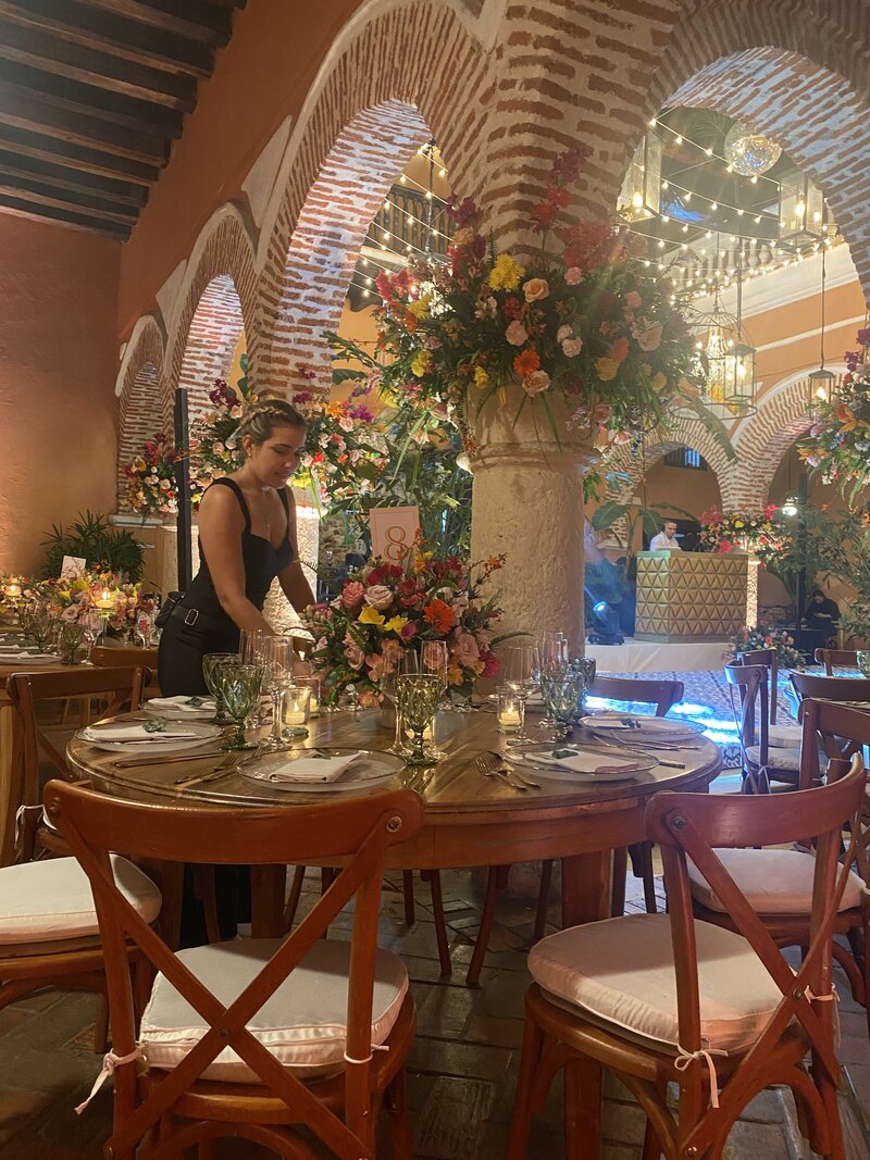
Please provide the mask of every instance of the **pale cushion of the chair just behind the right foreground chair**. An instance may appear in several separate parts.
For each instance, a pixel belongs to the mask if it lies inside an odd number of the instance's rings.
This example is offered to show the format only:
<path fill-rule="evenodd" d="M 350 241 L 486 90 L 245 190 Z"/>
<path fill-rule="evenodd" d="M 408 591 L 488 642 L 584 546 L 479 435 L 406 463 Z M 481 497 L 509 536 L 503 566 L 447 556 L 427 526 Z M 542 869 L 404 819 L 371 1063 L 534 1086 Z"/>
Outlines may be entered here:
<path fill-rule="evenodd" d="M 809 850 L 728 849 L 716 854 L 759 914 L 810 914 L 815 858 Z M 724 914 L 726 908 L 693 862 L 688 862 L 688 871 L 693 898 L 708 909 Z M 863 879 L 853 871 L 840 909 L 860 906 L 865 893 Z"/>

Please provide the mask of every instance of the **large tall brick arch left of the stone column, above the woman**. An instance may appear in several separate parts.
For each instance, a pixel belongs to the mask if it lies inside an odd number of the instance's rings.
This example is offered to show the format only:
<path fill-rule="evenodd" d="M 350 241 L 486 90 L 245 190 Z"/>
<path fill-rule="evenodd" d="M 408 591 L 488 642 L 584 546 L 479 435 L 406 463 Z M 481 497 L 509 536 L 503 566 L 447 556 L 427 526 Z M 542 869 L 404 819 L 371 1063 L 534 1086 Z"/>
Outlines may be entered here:
<path fill-rule="evenodd" d="M 334 328 L 375 211 L 411 152 L 435 136 L 456 188 L 483 184 L 487 57 L 443 0 L 375 2 L 349 22 L 309 94 L 260 239 L 252 363 L 260 389 L 328 385 Z M 477 167 L 477 173 L 473 173 Z"/>

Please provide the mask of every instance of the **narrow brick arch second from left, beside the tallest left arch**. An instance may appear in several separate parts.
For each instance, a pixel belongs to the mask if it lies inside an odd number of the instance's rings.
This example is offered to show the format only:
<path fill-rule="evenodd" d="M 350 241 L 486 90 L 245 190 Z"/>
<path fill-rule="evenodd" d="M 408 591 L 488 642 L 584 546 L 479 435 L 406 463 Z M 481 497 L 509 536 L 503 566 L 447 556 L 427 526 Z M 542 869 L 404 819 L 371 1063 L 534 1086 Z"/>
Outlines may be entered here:
<path fill-rule="evenodd" d="M 191 418 L 208 407 L 211 382 L 230 369 L 242 329 L 251 334 L 255 288 L 251 232 L 238 206 L 222 205 L 190 254 L 169 328 L 169 391 L 188 389 Z"/>

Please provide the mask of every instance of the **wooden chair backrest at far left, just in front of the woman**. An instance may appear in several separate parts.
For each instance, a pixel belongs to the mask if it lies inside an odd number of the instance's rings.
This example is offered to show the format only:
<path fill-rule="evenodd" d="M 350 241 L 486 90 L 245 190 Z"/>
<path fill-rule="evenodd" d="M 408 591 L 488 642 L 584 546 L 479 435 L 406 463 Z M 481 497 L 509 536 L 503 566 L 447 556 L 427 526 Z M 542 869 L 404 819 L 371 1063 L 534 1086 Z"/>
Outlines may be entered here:
<path fill-rule="evenodd" d="M 23 782 L 21 803 L 26 807 L 39 806 L 39 755 L 44 755 L 52 771 L 63 778 L 71 776 L 66 760 L 46 734 L 45 726 L 37 719 L 37 706 L 51 701 L 71 697 L 104 697 L 108 705 L 104 716 L 114 717 L 125 705 L 136 710 L 142 703 L 145 680 L 142 668 L 84 668 L 71 666 L 65 673 L 14 673 L 6 683 L 9 699 L 17 710 L 23 740 Z M 26 825 L 20 856 L 23 861 L 32 857 L 35 827 Z"/>

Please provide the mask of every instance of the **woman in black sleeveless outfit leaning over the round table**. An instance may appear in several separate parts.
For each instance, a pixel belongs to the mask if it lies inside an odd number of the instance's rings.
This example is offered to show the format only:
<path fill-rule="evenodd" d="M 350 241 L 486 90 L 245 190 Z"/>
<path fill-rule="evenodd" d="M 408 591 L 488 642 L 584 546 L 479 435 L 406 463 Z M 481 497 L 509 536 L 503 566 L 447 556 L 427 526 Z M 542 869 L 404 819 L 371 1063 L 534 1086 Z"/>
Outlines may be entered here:
<path fill-rule="evenodd" d="M 271 625 L 262 615 L 277 577 L 297 611 L 314 602 L 296 543 L 288 480 L 305 447 L 305 420 L 289 403 L 258 403 L 241 420 L 245 466 L 216 479 L 200 505 L 200 571 L 173 609 L 158 653 L 165 697 L 206 693 L 205 653 L 235 652 L 241 629 Z"/>

